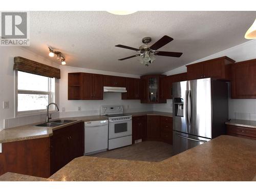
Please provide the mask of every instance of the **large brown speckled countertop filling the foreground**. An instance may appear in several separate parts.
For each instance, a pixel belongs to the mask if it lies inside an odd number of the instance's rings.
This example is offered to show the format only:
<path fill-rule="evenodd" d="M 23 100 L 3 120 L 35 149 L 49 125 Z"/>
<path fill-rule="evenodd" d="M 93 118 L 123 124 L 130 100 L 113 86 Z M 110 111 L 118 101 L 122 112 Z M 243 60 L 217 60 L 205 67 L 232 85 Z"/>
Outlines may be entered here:
<path fill-rule="evenodd" d="M 57 181 L 252 181 L 256 141 L 222 135 L 161 162 L 79 157 Z"/>

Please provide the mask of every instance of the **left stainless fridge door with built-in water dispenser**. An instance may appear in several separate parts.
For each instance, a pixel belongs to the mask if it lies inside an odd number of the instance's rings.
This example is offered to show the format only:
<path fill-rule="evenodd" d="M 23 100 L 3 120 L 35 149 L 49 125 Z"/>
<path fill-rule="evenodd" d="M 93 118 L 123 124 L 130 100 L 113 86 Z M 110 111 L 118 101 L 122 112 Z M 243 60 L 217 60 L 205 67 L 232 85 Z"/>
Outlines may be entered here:
<path fill-rule="evenodd" d="M 173 83 L 173 130 L 187 133 L 187 81 Z"/>

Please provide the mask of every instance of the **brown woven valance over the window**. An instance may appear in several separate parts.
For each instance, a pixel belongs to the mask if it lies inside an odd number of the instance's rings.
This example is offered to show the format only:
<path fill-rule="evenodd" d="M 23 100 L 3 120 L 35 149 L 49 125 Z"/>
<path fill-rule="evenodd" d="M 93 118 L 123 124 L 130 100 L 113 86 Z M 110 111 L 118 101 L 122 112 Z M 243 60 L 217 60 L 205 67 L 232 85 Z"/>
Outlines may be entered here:
<path fill-rule="evenodd" d="M 60 69 L 24 57 L 14 57 L 13 70 L 60 79 Z"/>

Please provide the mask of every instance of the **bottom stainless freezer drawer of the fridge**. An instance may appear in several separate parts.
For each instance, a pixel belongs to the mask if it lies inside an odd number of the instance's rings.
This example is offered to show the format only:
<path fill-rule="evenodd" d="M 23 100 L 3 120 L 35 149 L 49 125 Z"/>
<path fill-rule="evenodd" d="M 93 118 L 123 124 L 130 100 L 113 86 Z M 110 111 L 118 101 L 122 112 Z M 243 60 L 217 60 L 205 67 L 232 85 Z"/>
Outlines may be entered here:
<path fill-rule="evenodd" d="M 173 155 L 182 153 L 189 148 L 203 144 L 209 140 L 210 139 L 173 131 Z"/>

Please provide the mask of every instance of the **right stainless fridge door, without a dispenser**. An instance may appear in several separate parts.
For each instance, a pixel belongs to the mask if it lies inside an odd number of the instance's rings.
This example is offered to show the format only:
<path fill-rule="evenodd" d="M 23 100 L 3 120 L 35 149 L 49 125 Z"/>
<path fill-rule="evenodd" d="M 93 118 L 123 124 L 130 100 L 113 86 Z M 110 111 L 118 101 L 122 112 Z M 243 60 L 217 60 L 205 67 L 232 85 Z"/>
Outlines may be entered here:
<path fill-rule="evenodd" d="M 211 139 L 211 79 L 188 81 L 188 133 Z"/>

